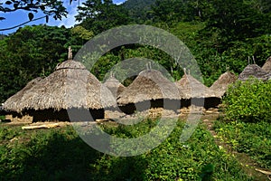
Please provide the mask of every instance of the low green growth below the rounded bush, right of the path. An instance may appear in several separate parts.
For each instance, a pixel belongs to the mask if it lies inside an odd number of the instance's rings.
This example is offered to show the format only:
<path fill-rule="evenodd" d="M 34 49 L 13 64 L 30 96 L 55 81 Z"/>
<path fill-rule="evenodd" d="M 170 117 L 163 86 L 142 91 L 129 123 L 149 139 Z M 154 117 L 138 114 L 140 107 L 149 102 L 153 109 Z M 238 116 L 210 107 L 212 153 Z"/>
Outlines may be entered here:
<path fill-rule="evenodd" d="M 214 128 L 220 140 L 239 153 L 246 153 L 259 167 L 271 168 L 271 124 L 241 121 L 216 121 Z"/>

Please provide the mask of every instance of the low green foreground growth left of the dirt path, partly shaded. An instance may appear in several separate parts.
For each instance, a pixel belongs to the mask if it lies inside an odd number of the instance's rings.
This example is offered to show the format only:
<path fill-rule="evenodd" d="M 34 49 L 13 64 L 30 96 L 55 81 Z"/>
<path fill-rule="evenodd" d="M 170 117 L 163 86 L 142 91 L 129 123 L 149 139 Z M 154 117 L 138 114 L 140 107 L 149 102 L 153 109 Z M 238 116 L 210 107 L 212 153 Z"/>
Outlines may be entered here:
<path fill-rule="evenodd" d="M 116 125 L 102 129 L 135 138 L 156 124 L 157 120 L 146 120 L 134 129 Z M 178 121 L 170 137 L 145 154 L 113 157 L 90 148 L 71 126 L 23 130 L 1 124 L 0 180 L 252 180 L 203 125 L 181 143 L 183 127 Z"/>

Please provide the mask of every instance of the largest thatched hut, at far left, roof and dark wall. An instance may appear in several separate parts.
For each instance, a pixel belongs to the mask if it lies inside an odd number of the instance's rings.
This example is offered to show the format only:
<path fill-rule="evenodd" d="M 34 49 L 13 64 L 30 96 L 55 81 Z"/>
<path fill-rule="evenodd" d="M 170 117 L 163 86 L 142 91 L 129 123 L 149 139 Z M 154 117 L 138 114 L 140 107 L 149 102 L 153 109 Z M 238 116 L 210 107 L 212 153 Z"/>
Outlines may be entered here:
<path fill-rule="evenodd" d="M 57 65 L 48 77 L 29 84 L 33 86 L 6 100 L 4 108 L 29 114 L 33 121 L 103 119 L 104 108 L 115 101 L 110 90 L 71 58 Z"/>

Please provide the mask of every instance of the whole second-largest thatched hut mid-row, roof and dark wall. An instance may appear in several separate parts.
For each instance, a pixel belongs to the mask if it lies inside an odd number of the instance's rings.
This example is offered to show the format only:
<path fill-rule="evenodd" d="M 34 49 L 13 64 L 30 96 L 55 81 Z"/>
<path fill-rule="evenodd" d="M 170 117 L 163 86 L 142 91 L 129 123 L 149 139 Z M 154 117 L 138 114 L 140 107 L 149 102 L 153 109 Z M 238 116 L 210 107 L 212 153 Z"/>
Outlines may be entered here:
<path fill-rule="evenodd" d="M 164 110 L 180 109 L 182 92 L 172 81 L 166 79 L 160 71 L 145 70 L 117 97 L 120 110 L 126 114 L 150 108 L 164 108 Z"/>

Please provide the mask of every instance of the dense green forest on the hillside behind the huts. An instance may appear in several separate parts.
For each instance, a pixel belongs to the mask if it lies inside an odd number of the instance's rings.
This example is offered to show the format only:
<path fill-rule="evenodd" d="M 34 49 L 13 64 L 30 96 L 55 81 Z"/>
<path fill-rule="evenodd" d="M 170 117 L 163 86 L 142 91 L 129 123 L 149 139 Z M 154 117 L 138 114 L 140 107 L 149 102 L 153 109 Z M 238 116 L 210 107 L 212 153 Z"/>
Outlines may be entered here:
<path fill-rule="evenodd" d="M 111 0 L 87 0 L 78 7 L 80 23 L 73 28 L 24 26 L 1 36 L 0 100 L 5 101 L 27 81 L 51 73 L 58 62 L 66 60 L 69 45 L 76 54 L 91 37 L 124 24 L 149 24 L 176 35 L 188 46 L 204 83 L 210 86 L 224 71 L 240 73 L 248 57 L 261 66 L 270 56 L 270 4 L 267 0 L 149 0 L 145 4 L 127 0 L 115 5 Z M 140 45 L 107 52 L 90 71 L 103 80 L 117 62 L 144 56 L 161 63 L 175 80 L 182 76 L 182 68 L 168 61 L 164 52 Z"/>

